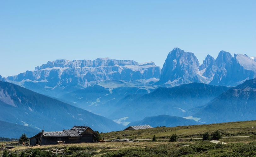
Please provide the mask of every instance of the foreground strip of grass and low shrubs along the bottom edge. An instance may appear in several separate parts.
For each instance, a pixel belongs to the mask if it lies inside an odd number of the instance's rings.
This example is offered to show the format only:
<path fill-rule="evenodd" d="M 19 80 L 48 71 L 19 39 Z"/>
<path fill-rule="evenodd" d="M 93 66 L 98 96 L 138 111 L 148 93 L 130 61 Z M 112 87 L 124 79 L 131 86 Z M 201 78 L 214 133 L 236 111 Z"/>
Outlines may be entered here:
<path fill-rule="evenodd" d="M 66 155 L 55 153 L 55 148 L 59 151 L 64 150 Z M 11 150 L 14 151 L 14 150 Z M 9 152 L 11 152 L 9 151 Z M 50 145 L 37 148 L 18 149 L 18 155 L 25 151 L 29 156 L 33 151 L 32 157 L 164 157 L 164 156 L 256 156 L 256 142 L 250 143 L 228 143 L 215 144 L 209 141 L 198 142 L 139 142 L 139 143 L 80 143 L 70 145 Z"/>

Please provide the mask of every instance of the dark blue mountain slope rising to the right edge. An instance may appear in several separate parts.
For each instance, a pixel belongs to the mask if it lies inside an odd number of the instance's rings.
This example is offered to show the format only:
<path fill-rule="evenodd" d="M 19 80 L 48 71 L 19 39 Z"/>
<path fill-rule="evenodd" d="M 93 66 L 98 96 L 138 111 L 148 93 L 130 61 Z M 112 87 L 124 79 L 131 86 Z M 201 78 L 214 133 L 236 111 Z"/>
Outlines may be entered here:
<path fill-rule="evenodd" d="M 207 123 L 256 119 L 256 79 L 229 89 L 204 106 L 194 117 Z"/>

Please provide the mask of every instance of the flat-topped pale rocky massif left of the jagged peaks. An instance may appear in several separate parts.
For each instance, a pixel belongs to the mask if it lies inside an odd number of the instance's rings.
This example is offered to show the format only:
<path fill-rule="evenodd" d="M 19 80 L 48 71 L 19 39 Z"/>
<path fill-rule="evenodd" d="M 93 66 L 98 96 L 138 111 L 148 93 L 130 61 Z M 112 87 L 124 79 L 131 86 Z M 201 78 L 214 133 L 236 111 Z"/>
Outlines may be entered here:
<path fill-rule="evenodd" d="M 137 63 L 110 58 L 56 60 L 7 79 L 38 93 L 59 97 L 103 80 L 154 82 L 159 79 L 160 71 L 154 62 Z"/>

